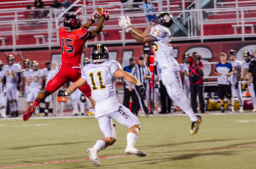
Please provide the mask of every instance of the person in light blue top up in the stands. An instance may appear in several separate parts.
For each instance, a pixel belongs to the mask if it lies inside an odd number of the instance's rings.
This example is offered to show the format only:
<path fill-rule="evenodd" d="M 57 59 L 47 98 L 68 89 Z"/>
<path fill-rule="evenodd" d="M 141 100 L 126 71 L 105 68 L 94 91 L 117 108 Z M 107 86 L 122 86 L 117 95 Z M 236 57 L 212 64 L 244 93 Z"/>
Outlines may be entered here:
<path fill-rule="evenodd" d="M 148 27 L 145 30 L 145 32 L 147 32 L 151 28 L 151 24 L 154 22 L 154 20 L 157 19 L 156 14 L 152 14 L 153 10 L 154 10 L 154 7 L 150 3 L 150 0 L 144 0 L 143 12 L 146 14 L 146 20 L 148 22 Z"/>

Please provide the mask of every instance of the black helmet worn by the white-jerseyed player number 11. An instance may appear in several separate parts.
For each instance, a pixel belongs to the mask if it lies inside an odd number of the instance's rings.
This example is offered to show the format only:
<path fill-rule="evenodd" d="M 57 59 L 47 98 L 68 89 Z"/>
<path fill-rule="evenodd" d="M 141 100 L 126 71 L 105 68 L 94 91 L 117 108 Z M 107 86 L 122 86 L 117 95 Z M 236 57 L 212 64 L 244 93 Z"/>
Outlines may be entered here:
<path fill-rule="evenodd" d="M 102 44 L 96 44 L 96 46 L 91 49 L 90 56 L 92 63 L 101 63 L 107 61 L 109 59 L 108 48 Z"/>

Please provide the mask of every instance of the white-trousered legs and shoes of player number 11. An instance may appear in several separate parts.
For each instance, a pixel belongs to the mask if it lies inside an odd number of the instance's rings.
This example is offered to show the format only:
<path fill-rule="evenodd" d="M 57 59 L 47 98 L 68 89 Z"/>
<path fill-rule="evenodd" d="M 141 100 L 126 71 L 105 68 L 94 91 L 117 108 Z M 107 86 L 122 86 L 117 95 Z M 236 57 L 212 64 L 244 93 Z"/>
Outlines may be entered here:
<path fill-rule="evenodd" d="M 143 151 L 135 148 L 137 135 L 140 131 L 140 122 L 138 121 L 136 115 L 133 115 L 129 109 L 127 109 L 124 105 L 120 104 L 120 108 L 116 112 L 108 115 L 102 115 L 97 118 L 104 138 L 97 140 L 96 144 L 92 148 L 87 149 L 87 154 L 89 155 L 90 161 L 94 166 L 100 166 L 97 157 L 98 153 L 103 149 L 106 149 L 108 146 L 113 145 L 116 141 L 116 135 L 112 119 L 129 128 L 129 131 L 126 135 L 127 143 L 125 148 L 125 154 L 146 156 Z"/>

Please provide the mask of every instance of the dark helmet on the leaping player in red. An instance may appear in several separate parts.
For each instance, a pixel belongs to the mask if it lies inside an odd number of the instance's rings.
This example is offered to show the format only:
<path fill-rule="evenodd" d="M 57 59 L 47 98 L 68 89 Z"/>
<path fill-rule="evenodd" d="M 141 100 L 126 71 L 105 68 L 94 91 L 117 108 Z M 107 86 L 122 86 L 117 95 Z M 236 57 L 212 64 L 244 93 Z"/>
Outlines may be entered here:
<path fill-rule="evenodd" d="M 63 25 L 65 30 L 73 31 L 81 27 L 81 20 L 79 19 L 79 16 L 77 16 L 76 14 L 65 14 Z"/>

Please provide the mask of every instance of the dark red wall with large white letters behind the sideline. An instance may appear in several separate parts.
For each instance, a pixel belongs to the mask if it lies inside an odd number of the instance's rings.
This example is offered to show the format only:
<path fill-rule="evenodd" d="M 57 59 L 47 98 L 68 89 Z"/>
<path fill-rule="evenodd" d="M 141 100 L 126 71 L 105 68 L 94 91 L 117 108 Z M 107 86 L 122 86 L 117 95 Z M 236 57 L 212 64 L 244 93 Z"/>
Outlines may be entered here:
<path fill-rule="evenodd" d="M 189 52 L 198 52 L 201 54 L 202 59 L 205 62 L 217 62 L 218 54 L 221 52 L 227 53 L 230 48 L 235 49 L 237 53 L 237 59 L 242 59 L 242 54 L 245 50 L 255 51 L 256 41 L 246 41 L 246 42 L 195 42 L 195 43 L 178 43 L 172 44 L 174 48 L 174 54 L 179 63 L 183 60 L 183 54 Z M 131 54 L 137 59 L 141 54 L 143 54 L 143 46 L 126 46 L 126 47 L 109 47 L 110 52 L 115 52 L 117 54 L 117 60 L 122 63 L 123 54 L 127 51 L 131 51 Z M 15 62 L 22 63 L 22 59 L 37 60 L 39 62 L 40 68 L 44 68 L 44 63 L 51 61 L 52 56 L 55 54 L 61 54 L 59 49 L 54 50 L 34 50 L 34 51 L 17 51 L 17 52 L 1 52 L 0 59 L 6 63 L 7 54 L 15 55 Z M 90 57 L 90 48 L 84 48 L 84 54 L 86 57 Z M 126 55 L 131 57 L 131 55 Z M 209 74 L 212 74 L 215 66 L 210 66 Z"/>

